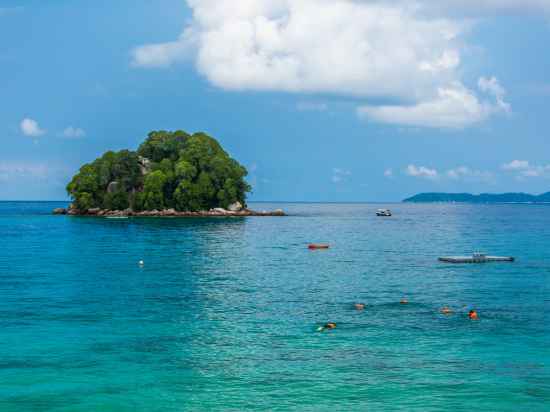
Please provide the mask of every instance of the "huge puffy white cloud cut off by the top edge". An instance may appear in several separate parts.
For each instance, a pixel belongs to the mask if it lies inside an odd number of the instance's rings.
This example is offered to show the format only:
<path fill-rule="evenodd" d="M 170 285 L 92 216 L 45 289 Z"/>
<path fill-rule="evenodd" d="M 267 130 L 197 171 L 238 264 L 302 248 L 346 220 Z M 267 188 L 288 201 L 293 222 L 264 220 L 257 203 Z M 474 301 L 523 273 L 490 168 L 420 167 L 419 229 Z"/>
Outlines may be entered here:
<path fill-rule="evenodd" d="M 188 0 L 192 23 L 173 42 L 133 51 L 169 66 L 194 49 L 199 72 L 228 90 L 416 99 L 455 78 L 460 22 L 410 7 L 352 0 Z"/>

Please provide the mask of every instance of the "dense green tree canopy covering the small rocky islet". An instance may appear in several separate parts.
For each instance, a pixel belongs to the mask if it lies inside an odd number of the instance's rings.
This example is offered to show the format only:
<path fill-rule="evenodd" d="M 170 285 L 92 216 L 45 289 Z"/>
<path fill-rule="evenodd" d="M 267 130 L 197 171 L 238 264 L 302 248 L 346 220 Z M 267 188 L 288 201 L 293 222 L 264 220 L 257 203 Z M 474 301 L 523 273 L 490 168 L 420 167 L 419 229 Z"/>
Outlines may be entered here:
<path fill-rule="evenodd" d="M 245 204 L 246 169 L 204 133 L 156 131 L 137 152 L 107 152 L 67 186 L 77 209 L 179 211 Z"/>

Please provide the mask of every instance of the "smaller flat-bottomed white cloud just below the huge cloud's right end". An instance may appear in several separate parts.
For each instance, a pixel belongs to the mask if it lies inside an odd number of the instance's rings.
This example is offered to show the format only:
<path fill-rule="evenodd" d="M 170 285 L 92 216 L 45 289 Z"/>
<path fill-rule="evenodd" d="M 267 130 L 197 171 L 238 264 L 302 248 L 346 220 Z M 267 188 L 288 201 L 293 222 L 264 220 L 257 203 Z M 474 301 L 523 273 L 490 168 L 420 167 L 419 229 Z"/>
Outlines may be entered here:
<path fill-rule="evenodd" d="M 362 106 L 357 109 L 362 117 L 382 123 L 436 128 L 462 128 L 485 120 L 491 114 L 509 112 L 510 105 L 504 101 L 504 89 L 496 78 L 481 77 L 481 91 L 495 97 L 495 103 L 480 101 L 461 83 L 437 90 L 437 96 L 415 105 Z"/>

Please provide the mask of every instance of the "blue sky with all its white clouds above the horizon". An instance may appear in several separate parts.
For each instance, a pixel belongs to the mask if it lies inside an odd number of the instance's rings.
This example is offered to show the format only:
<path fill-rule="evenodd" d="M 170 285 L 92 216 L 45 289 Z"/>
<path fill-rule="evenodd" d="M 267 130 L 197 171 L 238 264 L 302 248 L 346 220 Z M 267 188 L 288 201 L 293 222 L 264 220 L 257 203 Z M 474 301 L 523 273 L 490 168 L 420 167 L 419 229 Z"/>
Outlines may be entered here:
<path fill-rule="evenodd" d="M 0 0 L 0 200 L 152 130 L 250 200 L 550 191 L 550 0 Z"/>

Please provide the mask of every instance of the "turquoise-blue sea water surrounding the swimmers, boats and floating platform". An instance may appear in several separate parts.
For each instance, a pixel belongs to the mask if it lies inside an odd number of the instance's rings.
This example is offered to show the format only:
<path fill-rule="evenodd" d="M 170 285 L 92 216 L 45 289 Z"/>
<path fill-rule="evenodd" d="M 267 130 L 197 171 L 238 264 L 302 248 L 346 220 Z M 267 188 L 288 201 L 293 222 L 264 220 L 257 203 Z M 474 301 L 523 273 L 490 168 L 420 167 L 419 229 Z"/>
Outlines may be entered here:
<path fill-rule="evenodd" d="M 0 203 L 2 412 L 550 410 L 550 206 L 56 206 Z M 518 260 L 437 262 L 474 250 Z"/>

